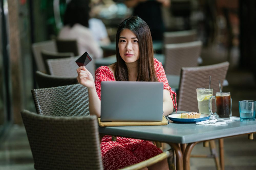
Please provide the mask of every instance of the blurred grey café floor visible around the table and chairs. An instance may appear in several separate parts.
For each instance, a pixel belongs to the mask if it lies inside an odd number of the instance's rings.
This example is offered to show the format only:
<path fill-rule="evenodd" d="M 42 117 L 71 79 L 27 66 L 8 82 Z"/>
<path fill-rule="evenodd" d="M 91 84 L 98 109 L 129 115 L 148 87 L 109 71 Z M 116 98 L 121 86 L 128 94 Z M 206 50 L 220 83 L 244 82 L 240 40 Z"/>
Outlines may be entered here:
<path fill-rule="evenodd" d="M 201 55 L 203 65 L 225 61 L 225 52 L 223 53 L 222 50 L 219 47 L 204 49 Z M 250 72 L 237 68 L 238 58 L 236 53 L 233 54 L 226 77 L 229 86 L 223 87 L 223 91 L 231 92 L 232 115 L 239 116 L 238 101 L 256 100 L 256 85 Z M 226 138 L 224 152 L 226 170 L 256 169 L 256 139 L 249 140 L 247 135 Z M 197 144 L 192 151 L 192 155 L 209 153 L 209 148 L 203 147 L 202 143 Z M 216 169 L 213 158 L 191 158 L 190 165 L 191 170 Z M 0 141 L 0 169 L 34 169 L 33 157 L 23 126 L 13 125 L 5 140 Z"/>

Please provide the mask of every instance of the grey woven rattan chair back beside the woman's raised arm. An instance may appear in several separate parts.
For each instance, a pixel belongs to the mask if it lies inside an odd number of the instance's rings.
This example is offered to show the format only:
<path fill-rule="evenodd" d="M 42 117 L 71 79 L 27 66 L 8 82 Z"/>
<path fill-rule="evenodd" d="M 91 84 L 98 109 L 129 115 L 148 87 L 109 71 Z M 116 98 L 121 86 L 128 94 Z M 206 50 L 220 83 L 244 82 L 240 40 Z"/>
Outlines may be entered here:
<path fill-rule="evenodd" d="M 90 115 L 88 89 L 81 84 L 32 89 L 36 112 L 49 116 Z"/>

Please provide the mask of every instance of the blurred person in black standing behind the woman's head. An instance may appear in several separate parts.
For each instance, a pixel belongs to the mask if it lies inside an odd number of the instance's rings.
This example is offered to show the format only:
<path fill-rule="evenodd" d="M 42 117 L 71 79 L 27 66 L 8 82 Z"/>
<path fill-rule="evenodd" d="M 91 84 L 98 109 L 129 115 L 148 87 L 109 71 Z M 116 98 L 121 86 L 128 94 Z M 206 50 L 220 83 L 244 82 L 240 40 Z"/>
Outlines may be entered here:
<path fill-rule="evenodd" d="M 169 7 L 170 0 L 125 0 L 124 3 L 133 8 L 133 15 L 141 17 L 148 24 L 153 40 L 163 40 L 165 25 L 161 8 Z"/>

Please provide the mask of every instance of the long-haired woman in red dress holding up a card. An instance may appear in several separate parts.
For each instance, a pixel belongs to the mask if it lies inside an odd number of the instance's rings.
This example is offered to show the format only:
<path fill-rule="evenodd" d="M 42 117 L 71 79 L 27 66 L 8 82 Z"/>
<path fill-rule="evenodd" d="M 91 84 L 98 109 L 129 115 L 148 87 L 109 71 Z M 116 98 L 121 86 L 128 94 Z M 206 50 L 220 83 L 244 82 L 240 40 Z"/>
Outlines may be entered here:
<path fill-rule="evenodd" d="M 163 82 L 163 114 L 172 113 L 175 107 L 172 94 L 175 92 L 169 87 L 162 64 L 153 58 L 150 29 L 141 18 L 132 16 L 119 25 L 116 33 L 116 54 L 116 63 L 96 70 L 95 82 L 85 67 L 77 69 L 78 82 L 88 88 L 90 114 L 100 117 L 101 81 Z M 117 137 L 116 141 L 112 141 L 109 135 L 104 136 L 101 141 L 105 169 L 123 168 L 160 153 L 162 151 L 150 141 L 124 137 Z M 167 160 L 145 169 L 168 169 Z"/>

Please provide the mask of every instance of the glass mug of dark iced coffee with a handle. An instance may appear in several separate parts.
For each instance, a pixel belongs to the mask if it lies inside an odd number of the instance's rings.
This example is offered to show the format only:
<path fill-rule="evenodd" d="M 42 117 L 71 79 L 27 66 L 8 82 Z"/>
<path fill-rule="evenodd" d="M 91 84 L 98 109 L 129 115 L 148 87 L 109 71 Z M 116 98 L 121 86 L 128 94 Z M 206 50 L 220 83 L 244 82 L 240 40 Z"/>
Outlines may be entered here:
<path fill-rule="evenodd" d="M 216 100 L 216 112 L 211 110 L 212 99 Z M 218 119 L 230 119 L 232 112 L 232 99 L 230 92 L 217 92 L 216 96 L 211 96 L 209 99 L 209 110 L 211 115 L 216 115 Z"/>

